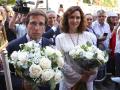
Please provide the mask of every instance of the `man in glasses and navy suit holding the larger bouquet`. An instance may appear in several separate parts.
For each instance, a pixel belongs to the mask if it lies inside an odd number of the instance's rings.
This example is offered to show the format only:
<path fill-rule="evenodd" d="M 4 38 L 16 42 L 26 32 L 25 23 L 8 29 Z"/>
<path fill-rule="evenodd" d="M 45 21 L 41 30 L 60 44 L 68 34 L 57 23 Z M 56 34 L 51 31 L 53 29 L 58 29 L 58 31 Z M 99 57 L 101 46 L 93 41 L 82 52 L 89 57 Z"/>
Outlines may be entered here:
<path fill-rule="evenodd" d="M 15 39 L 11 41 L 7 46 L 8 56 L 11 55 L 13 51 L 18 51 L 20 49 L 19 45 L 27 43 L 31 40 L 35 40 L 36 43 L 39 43 L 41 47 L 45 47 L 48 45 L 51 45 L 51 42 L 47 38 L 43 38 L 42 34 L 45 32 L 45 26 L 47 23 L 47 17 L 46 14 L 41 10 L 32 10 L 28 13 L 26 17 L 26 27 L 27 27 L 27 34 L 25 34 L 23 37 Z M 14 72 L 14 68 L 11 65 L 10 66 L 11 71 Z M 13 83 L 13 90 L 23 90 L 22 82 L 23 80 L 11 74 L 12 77 L 12 83 Z M 3 82 L 3 81 L 2 81 Z M 49 85 L 48 86 L 41 86 L 39 87 L 40 90 L 50 90 Z M 5 90 L 5 88 L 0 89 Z"/>

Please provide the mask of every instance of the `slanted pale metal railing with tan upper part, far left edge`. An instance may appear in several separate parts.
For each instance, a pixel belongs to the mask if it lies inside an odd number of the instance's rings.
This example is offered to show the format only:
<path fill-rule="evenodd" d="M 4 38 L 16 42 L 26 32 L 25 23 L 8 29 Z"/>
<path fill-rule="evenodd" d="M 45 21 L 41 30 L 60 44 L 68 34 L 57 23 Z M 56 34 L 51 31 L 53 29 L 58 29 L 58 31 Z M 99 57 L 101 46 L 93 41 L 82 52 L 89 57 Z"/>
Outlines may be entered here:
<path fill-rule="evenodd" d="M 0 61 L 2 61 L 2 62 L 0 62 L 0 64 L 3 65 L 3 71 L 2 72 L 4 72 L 6 88 L 7 88 L 7 90 L 13 90 L 12 82 L 11 82 L 11 76 L 10 76 L 10 69 L 9 69 L 7 51 L 4 49 L 4 48 L 6 48 L 7 44 L 8 44 L 8 42 L 7 42 L 5 29 L 3 28 L 2 30 L 0 30 Z"/>

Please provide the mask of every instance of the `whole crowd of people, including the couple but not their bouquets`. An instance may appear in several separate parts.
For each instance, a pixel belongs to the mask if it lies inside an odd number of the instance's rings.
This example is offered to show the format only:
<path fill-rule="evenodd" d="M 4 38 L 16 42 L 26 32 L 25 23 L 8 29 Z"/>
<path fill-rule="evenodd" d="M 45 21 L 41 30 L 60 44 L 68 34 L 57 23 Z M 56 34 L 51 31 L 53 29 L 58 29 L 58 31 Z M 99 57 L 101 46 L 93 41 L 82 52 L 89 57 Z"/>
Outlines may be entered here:
<path fill-rule="evenodd" d="M 20 44 L 31 40 L 39 43 L 40 47 L 52 46 L 63 52 L 65 57 L 65 65 L 62 69 L 64 79 L 57 85 L 56 90 L 79 90 L 77 88 L 79 81 L 86 83 L 87 90 L 94 90 L 95 80 L 102 80 L 109 74 L 120 77 L 118 15 L 114 12 L 107 13 L 104 10 L 98 10 L 96 16 L 91 13 L 84 14 L 80 6 L 71 6 L 62 12 L 63 15 L 57 15 L 52 10 L 44 12 L 41 9 L 33 9 L 28 14 L 14 12 L 14 15 L 10 15 L 5 7 L 0 9 L 0 31 L 2 31 L 1 27 L 5 27 L 8 56 L 13 51 L 18 51 Z M 109 60 L 104 67 L 100 67 L 96 71 L 89 70 L 79 74 L 75 70 L 76 66 L 67 62 L 66 52 L 87 41 L 103 51 L 108 51 Z M 15 70 L 12 65 L 10 65 L 10 69 L 13 89 L 24 90 L 23 80 L 14 74 Z M 50 87 L 49 85 L 40 86 L 39 89 L 50 90 Z M 3 74 L 0 74 L 0 90 L 6 90 Z"/>

